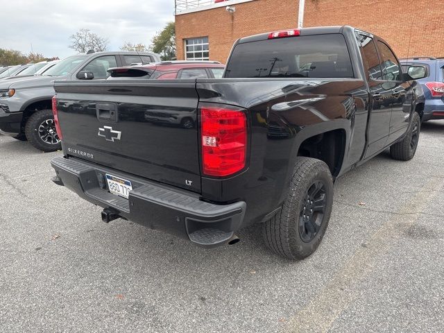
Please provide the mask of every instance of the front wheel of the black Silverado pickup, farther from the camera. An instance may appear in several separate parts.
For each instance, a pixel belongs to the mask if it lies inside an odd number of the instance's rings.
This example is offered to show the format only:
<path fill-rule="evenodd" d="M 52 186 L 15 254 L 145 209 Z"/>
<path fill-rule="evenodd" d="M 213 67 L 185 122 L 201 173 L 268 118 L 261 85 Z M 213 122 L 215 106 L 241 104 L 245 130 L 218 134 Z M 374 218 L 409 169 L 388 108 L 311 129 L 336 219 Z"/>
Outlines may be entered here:
<path fill-rule="evenodd" d="M 416 148 L 418 148 L 420 130 L 421 119 L 418 112 L 415 112 L 404 139 L 390 147 L 391 158 L 400 161 L 411 160 L 416 153 Z"/>

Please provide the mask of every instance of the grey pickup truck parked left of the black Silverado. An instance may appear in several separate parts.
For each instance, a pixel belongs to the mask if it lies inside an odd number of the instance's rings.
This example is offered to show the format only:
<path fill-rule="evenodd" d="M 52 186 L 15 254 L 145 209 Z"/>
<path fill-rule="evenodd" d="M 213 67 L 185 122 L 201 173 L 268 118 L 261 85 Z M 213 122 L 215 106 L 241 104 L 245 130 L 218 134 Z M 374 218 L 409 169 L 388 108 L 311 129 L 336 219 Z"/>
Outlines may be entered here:
<path fill-rule="evenodd" d="M 51 99 L 53 83 L 60 80 L 105 80 L 110 67 L 130 65 L 134 61 L 159 62 L 155 53 L 98 52 L 66 58 L 42 76 L 16 76 L 0 80 L 0 134 L 28 140 L 41 151 L 61 148 L 56 133 Z"/>

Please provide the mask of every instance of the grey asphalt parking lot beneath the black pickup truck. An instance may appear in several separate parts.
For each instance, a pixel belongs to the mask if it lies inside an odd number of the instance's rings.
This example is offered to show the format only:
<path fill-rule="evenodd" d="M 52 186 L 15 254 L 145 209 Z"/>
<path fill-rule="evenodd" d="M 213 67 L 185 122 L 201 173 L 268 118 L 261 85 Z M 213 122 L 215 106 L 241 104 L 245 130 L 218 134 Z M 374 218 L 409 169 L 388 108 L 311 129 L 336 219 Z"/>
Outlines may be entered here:
<path fill-rule="evenodd" d="M 212 250 L 53 185 L 58 153 L 0 136 L 0 332 L 442 332 L 444 121 L 335 185 L 318 251 L 289 262 L 260 226 Z"/>

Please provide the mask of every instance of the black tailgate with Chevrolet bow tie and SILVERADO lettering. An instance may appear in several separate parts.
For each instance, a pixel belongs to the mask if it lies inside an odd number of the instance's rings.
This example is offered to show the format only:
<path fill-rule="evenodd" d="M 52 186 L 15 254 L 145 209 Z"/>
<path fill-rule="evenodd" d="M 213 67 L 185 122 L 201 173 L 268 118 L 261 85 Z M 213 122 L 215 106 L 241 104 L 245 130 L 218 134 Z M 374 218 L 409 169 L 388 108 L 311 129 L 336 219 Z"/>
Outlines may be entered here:
<path fill-rule="evenodd" d="M 65 155 L 200 193 L 194 80 L 58 82 Z"/>

